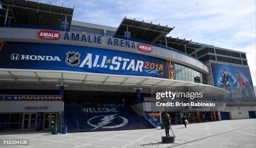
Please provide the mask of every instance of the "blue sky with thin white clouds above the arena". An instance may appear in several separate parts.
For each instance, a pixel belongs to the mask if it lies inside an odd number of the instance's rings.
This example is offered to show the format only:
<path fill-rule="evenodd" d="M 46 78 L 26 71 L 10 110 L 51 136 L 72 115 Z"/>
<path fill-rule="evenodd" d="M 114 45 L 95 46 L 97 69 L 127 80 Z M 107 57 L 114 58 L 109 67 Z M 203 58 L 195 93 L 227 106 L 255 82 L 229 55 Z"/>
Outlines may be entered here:
<path fill-rule="evenodd" d="M 37 1 L 37 0 L 33 0 Z M 118 27 L 123 17 L 175 29 L 172 37 L 246 52 L 256 85 L 255 0 L 39 0 L 74 7 L 73 20 Z"/>

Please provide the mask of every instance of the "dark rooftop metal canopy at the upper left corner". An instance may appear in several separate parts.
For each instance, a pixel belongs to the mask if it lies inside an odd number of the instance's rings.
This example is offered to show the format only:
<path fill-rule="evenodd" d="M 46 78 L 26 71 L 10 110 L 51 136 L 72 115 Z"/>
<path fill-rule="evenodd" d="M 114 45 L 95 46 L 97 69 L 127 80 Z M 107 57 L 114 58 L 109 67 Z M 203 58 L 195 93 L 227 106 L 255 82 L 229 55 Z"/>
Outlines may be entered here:
<path fill-rule="evenodd" d="M 28 0 L 0 0 L 3 9 L 9 7 L 9 11 L 13 11 L 13 19 L 11 23 L 24 25 L 40 25 L 50 27 L 60 27 L 61 21 L 71 23 L 73 16 L 73 8 L 63 6 L 55 6 Z M 10 13 L 10 12 L 9 12 Z M 8 13 L 8 15 L 9 15 Z M 0 23 L 4 23 L 2 20 Z"/>

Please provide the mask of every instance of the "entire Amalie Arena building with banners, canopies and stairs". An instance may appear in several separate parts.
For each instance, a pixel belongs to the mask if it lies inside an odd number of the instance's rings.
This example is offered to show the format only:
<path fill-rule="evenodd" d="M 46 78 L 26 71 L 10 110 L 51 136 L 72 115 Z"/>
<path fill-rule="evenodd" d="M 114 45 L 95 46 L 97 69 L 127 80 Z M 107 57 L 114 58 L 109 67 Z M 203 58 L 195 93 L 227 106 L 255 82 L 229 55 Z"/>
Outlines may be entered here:
<path fill-rule="evenodd" d="M 0 130 L 155 128 L 255 118 L 246 53 L 167 37 L 174 27 L 72 20 L 74 8 L 0 0 Z M 100 22 L 99 22 L 100 24 Z M 161 98 L 159 92 L 202 93 Z M 157 106 L 166 102 L 215 106 Z"/>

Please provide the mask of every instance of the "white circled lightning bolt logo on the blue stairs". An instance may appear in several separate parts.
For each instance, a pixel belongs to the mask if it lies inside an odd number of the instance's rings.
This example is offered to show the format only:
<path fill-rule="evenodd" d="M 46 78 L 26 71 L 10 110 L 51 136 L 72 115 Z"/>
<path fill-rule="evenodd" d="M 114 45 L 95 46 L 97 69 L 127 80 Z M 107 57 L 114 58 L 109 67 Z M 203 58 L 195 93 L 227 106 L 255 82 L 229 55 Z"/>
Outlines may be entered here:
<path fill-rule="evenodd" d="M 87 123 L 93 126 L 92 130 L 96 128 L 119 128 L 125 126 L 128 123 L 128 119 L 122 116 L 106 115 L 106 116 L 95 116 L 90 118 Z"/>

